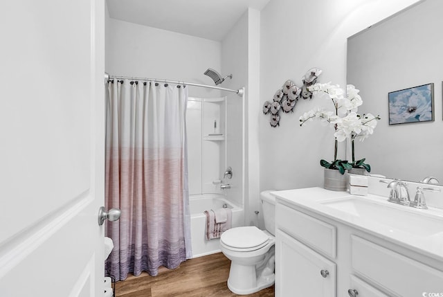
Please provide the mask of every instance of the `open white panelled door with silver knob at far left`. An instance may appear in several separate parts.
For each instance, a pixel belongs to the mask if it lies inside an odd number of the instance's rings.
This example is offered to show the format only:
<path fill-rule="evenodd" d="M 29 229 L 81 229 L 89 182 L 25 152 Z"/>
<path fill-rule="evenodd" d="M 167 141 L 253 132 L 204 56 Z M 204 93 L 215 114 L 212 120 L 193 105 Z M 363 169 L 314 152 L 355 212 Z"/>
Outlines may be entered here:
<path fill-rule="evenodd" d="M 104 0 L 0 8 L 0 296 L 103 296 Z"/>

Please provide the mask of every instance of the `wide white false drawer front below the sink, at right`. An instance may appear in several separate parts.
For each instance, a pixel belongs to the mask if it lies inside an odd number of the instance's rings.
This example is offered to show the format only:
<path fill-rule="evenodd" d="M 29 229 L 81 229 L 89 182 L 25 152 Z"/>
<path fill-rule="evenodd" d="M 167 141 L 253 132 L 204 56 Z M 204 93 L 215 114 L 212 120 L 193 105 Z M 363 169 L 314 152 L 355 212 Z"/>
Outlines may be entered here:
<path fill-rule="evenodd" d="M 396 296 L 443 292 L 443 272 L 351 235 L 352 270 Z"/>

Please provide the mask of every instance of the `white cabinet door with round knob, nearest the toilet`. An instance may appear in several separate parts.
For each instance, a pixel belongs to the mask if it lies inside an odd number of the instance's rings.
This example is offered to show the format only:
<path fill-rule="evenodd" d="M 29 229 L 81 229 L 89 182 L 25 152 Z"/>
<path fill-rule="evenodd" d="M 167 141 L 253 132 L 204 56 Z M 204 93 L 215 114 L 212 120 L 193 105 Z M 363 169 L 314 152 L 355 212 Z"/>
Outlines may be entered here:
<path fill-rule="evenodd" d="M 336 296 L 336 264 L 280 229 L 275 257 L 275 296 Z"/>

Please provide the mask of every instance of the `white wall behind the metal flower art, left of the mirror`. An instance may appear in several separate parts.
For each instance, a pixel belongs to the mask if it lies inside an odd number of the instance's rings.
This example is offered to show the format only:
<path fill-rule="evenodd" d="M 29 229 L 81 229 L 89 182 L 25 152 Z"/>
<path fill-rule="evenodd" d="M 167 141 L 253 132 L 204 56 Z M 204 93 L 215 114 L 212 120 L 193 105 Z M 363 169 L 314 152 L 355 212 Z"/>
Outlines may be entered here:
<path fill-rule="evenodd" d="M 308 69 L 323 69 L 319 82 L 345 86 L 346 40 L 417 0 L 272 0 L 261 12 L 260 102 L 272 100 L 291 79 L 299 86 Z M 260 188 L 323 186 L 320 159 L 333 159 L 332 130 L 319 123 L 300 127 L 300 116 L 318 102 L 300 100 L 280 127 L 260 118 Z M 344 159 L 344 145 L 340 146 Z"/>

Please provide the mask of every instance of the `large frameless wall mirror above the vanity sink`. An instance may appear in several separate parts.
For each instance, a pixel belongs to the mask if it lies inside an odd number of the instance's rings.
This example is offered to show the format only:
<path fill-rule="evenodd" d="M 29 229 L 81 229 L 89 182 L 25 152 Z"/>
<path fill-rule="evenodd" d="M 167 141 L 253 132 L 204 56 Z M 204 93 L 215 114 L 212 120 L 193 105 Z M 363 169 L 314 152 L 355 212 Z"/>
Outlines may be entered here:
<path fill-rule="evenodd" d="M 347 39 L 347 84 L 360 89 L 359 113 L 381 116 L 374 134 L 355 143 L 371 173 L 406 181 L 431 175 L 443 184 L 442 11 L 441 0 L 419 1 Z M 429 83 L 435 120 L 389 125 L 388 93 Z"/>

